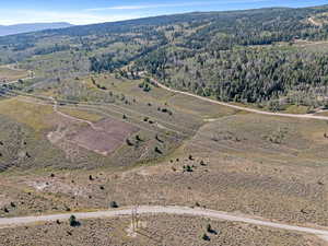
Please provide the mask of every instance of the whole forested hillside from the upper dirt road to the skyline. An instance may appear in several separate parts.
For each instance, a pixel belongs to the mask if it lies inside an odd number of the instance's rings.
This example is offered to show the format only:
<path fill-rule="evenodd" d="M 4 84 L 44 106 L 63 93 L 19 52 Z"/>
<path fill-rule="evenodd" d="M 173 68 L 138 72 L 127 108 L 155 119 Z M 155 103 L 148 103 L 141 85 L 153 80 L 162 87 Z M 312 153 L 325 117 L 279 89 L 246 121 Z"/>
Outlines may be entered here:
<path fill-rule="evenodd" d="M 0 62 L 33 69 L 35 57 L 58 55 L 48 74 L 148 71 L 221 101 L 325 106 L 327 13 L 327 5 L 195 12 L 0 37 Z"/>

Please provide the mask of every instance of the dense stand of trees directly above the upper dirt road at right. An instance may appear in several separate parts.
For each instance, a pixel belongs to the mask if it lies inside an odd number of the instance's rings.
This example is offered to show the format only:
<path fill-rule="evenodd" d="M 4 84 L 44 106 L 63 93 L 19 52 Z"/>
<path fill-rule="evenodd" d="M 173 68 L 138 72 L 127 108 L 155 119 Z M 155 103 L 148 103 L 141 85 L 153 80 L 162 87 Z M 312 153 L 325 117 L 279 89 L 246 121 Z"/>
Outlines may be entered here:
<path fill-rule="evenodd" d="M 160 72 L 149 58 L 139 66 L 167 85 L 225 102 L 263 103 L 284 97 L 289 103 L 308 105 L 312 102 L 306 95 L 327 95 L 327 51 L 265 47 L 185 56 L 181 51 L 169 54 L 165 70 Z"/>

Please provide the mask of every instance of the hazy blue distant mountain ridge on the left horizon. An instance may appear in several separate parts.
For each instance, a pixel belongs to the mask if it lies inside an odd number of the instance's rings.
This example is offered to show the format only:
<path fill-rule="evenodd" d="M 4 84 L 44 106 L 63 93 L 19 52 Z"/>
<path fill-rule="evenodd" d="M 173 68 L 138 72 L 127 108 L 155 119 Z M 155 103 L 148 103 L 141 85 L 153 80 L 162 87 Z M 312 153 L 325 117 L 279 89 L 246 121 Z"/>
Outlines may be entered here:
<path fill-rule="evenodd" d="M 73 25 L 67 22 L 0 25 L 0 36 L 37 32 L 44 30 L 66 28 L 71 26 Z"/>

